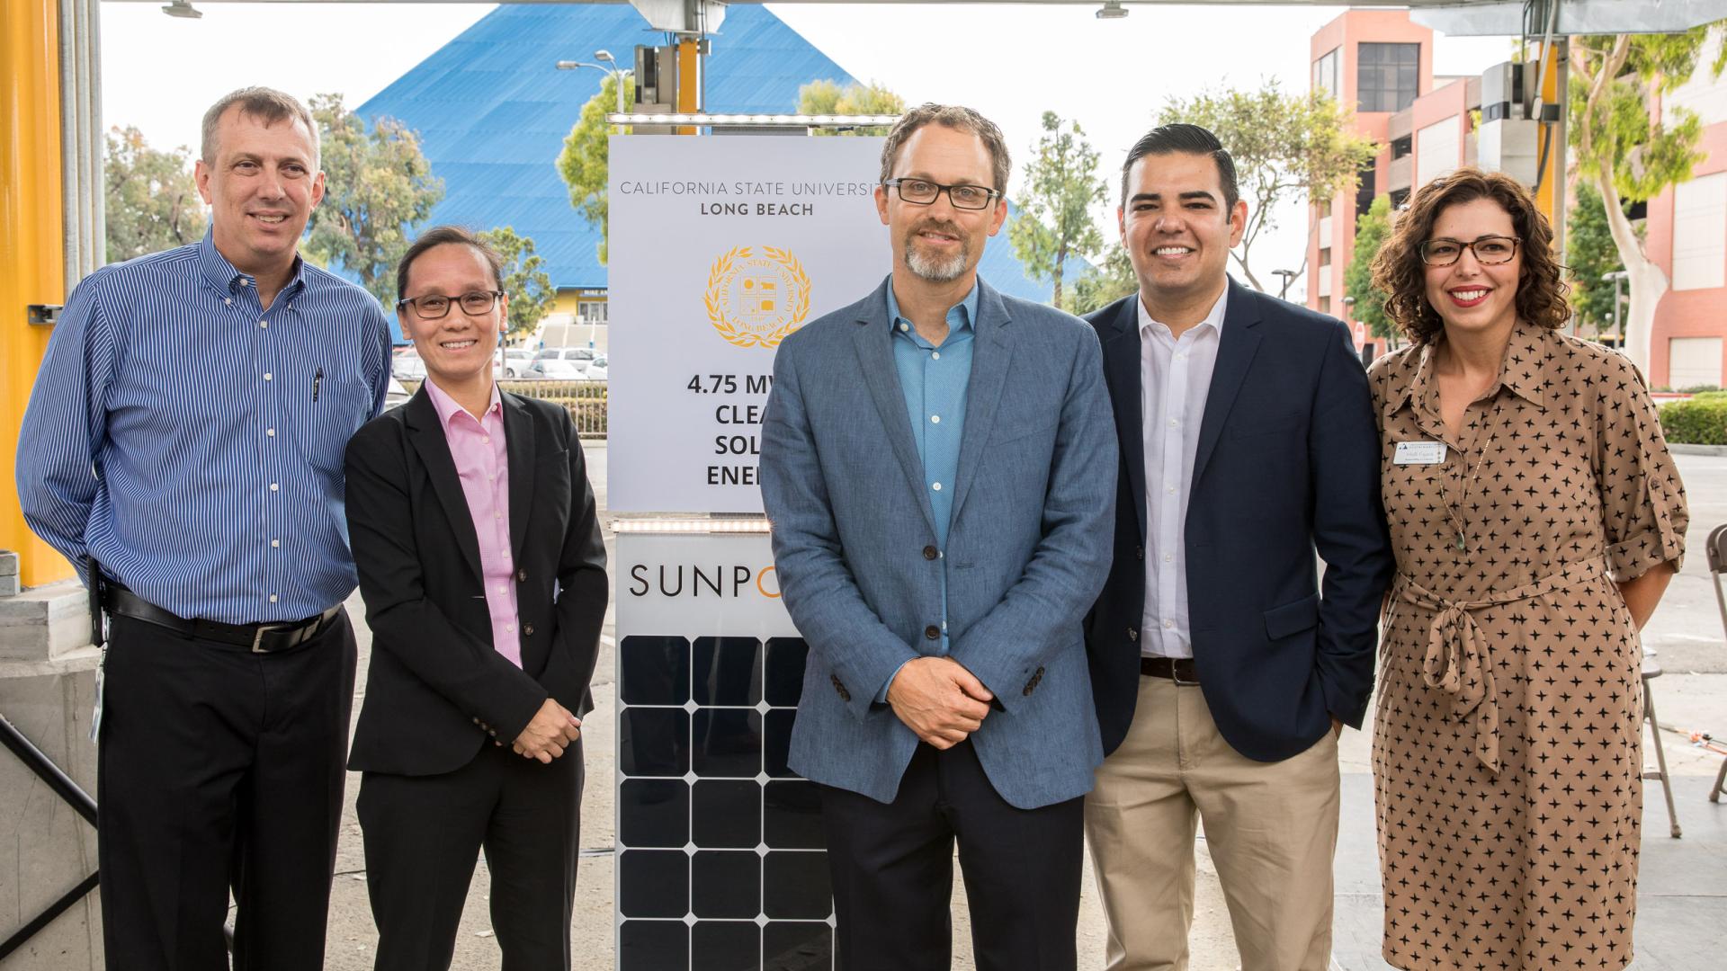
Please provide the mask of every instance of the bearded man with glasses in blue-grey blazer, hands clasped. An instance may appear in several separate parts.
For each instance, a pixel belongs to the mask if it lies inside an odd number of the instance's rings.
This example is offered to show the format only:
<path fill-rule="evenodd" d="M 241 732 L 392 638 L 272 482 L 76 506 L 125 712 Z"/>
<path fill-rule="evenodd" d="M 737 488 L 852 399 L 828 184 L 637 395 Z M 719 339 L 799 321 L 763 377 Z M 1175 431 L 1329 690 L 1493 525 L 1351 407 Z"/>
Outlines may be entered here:
<path fill-rule="evenodd" d="M 1116 446 L 1097 335 L 977 280 L 1000 130 L 908 112 L 876 207 L 893 273 L 774 361 L 762 498 L 810 662 L 791 767 L 822 784 L 839 961 L 945 971 L 958 840 L 983 971 L 1074 968 L 1104 758 L 1081 619 Z"/>

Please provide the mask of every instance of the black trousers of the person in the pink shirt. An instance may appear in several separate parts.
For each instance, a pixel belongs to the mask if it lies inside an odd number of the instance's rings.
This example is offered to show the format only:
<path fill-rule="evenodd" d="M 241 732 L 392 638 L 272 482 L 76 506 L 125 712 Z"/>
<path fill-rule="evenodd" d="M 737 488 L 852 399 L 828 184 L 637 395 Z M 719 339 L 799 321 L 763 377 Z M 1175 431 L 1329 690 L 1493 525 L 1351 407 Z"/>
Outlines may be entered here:
<path fill-rule="evenodd" d="M 449 968 L 484 848 L 503 971 L 568 971 L 580 809 L 580 741 L 549 765 L 485 745 L 442 776 L 361 776 L 373 968 Z"/>

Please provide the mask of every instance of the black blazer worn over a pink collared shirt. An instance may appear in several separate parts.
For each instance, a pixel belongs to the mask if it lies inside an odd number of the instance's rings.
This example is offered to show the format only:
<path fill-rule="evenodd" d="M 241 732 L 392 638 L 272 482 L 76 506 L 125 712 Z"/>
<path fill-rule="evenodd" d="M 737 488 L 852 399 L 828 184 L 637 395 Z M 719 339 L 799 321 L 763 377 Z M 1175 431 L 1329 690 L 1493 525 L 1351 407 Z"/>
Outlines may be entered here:
<path fill-rule="evenodd" d="M 606 548 L 570 415 L 503 396 L 522 667 L 492 648 L 480 544 L 421 387 L 347 444 L 347 529 L 371 625 L 349 769 L 432 776 L 509 745 L 547 696 L 577 715 L 606 615 Z"/>

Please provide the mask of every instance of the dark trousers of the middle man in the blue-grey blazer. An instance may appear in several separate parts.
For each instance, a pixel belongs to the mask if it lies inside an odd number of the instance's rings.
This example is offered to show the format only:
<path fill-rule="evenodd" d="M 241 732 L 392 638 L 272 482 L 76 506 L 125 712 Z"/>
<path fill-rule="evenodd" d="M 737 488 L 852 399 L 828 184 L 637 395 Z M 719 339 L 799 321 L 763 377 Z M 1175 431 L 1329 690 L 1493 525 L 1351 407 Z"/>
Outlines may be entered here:
<path fill-rule="evenodd" d="M 977 971 L 1072 971 L 1083 807 L 1009 805 L 971 741 L 919 743 L 886 805 L 822 786 L 839 968 L 948 971 L 957 838 Z"/>

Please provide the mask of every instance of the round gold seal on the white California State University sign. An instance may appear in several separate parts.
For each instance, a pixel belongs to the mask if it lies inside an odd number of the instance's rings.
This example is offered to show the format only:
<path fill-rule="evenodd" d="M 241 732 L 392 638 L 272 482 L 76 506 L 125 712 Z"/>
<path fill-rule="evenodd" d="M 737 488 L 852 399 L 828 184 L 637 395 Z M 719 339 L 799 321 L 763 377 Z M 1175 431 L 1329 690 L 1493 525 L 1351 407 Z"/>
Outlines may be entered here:
<path fill-rule="evenodd" d="M 810 316 L 810 276 L 789 249 L 737 245 L 713 261 L 708 321 L 737 347 L 779 347 Z"/>

